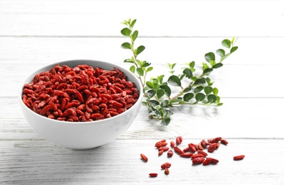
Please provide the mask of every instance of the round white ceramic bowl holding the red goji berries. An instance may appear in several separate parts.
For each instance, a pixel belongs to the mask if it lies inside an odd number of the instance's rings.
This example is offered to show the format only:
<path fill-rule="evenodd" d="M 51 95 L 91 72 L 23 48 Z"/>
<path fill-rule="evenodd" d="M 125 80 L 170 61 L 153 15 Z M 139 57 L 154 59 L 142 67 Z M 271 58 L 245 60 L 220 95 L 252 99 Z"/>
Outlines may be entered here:
<path fill-rule="evenodd" d="M 58 64 L 61 66 L 68 65 L 72 68 L 76 65 L 86 64 L 93 66 L 94 68 L 99 67 L 105 70 L 113 70 L 115 67 L 123 71 L 127 76 L 127 79 L 132 81 L 132 83 L 135 83 L 140 93 L 139 99 L 135 105 L 130 107 L 129 110 L 126 110 L 115 117 L 106 118 L 105 120 L 97 120 L 93 122 L 65 122 L 43 117 L 26 107 L 22 101 L 23 85 L 30 83 L 37 73 L 48 71 L 56 64 L 57 63 L 47 65 L 46 67 L 31 73 L 31 75 L 28 75 L 28 78 L 23 80 L 21 88 L 19 89 L 19 100 L 23 115 L 26 117 L 26 120 L 33 129 L 41 135 L 41 137 L 48 139 L 50 142 L 55 144 L 71 149 L 91 149 L 114 141 L 117 137 L 120 137 L 120 135 L 125 132 L 130 125 L 132 125 L 132 122 L 135 120 L 135 117 L 137 117 L 142 104 L 142 85 L 135 75 L 128 70 L 112 63 L 97 60 L 68 60 Z"/>

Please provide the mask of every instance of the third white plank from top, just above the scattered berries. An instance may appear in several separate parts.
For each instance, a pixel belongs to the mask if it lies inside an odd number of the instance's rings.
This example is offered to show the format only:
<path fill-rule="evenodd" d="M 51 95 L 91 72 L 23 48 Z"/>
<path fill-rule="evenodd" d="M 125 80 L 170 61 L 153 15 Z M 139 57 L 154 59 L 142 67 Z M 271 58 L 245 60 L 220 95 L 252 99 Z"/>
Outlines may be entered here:
<path fill-rule="evenodd" d="M 132 126 L 120 139 L 172 139 L 182 135 L 189 139 L 283 138 L 284 98 L 223 98 L 221 107 L 174 107 L 172 122 L 162 126 L 148 119 L 146 107 L 141 107 Z M 16 98 L 2 98 L 1 139 L 29 140 L 39 137 L 23 117 Z"/>

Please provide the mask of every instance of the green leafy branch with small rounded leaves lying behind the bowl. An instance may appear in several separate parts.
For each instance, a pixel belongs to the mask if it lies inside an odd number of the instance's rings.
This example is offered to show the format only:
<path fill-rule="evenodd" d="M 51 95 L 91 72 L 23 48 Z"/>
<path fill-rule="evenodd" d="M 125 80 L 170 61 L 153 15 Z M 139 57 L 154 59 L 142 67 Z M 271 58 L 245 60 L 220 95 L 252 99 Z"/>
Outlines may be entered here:
<path fill-rule="evenodd" d="M 218 88 L 214 87 L 214 82 L 211 81 L 209 75 L 212 71 L 223 66 L 223 60 L 231 56 L 238 49 L 234 46 L 236 39 L 224 39 L 221 42 L 223 48 L 216 50 L 216 55 L 213 52 L 206 53 L 204 58 L 206 62 L 202 63 L 201 72 L 196 73 L 196 65 L 194 61 L 186 63 L 182 68 L 182 73 L 175 75 L 176 63 L 168 63 L 170 76 L 164 80 L 164 75 L 158 75 L 157 78 L 146 80 L 146 75 L 153 70 L 151 63 L 138 60 L 137 56 L 144 51 L 144 46 L 135 48 L 135 40 L 138 36 L 138 31 L 133 31 L 136 19 L 131 19 L 123 22 L 127 28 L 123 28 L 121 33 L 123 36 L 130 38 L 130 43 L 122 43 L 122 48 L 130 49 L 132 57 L 126 59 L 126 63 L 132 63 L 130 71 L 137 75 L 143 86 L 144 100 L 143 105 L 148 108 L 149 119 L 157 120 L 162 125 L 169 125 L 170 116 L 173 115 L 171 108 L 176 105 L 213 105 L 220 106 L 221 98 L 219 97 Z M 219 60 L 217 60 L 217 58 Z M 185 86 L 183 84 L 186 84 Z M 172 95 L 172 89 L 179 88 L 176 95 Z"/>

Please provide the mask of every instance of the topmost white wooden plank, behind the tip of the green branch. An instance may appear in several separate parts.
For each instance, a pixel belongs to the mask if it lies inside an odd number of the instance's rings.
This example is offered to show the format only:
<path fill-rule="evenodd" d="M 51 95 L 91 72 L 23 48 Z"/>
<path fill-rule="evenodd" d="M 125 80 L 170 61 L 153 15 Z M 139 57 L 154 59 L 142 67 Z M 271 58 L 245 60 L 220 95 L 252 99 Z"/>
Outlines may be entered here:
<path fill-rule="evenodd" d="M 1 5 L 2 36 L 120 36 L 120 22 L 130 17 L 137 18 L 141 36 L 284 36 L 283 1 L 3 1 Z"/>

